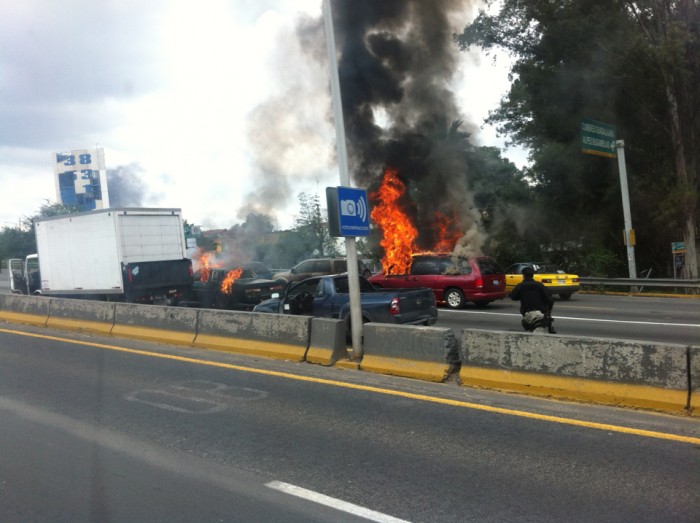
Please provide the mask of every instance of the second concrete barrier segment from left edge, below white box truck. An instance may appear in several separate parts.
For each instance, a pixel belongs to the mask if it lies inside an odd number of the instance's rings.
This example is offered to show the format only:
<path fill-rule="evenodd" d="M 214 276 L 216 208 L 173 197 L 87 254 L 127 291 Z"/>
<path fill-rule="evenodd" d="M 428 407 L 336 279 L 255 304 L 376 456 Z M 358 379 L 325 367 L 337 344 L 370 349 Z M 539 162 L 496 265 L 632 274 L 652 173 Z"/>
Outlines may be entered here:
<path fill-rule="evenodd" d="M 97 334 L 112 331 L 115 303 L 65 298 L 48 298 L 48 301 L 47 327 Z"/>

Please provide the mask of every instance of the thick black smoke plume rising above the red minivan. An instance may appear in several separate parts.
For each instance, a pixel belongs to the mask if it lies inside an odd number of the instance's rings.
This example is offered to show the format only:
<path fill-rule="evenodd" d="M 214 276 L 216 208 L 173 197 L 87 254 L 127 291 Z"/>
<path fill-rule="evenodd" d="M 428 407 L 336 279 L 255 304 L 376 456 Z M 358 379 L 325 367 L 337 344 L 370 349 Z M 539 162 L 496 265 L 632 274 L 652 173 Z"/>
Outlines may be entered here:
<path fill-rule="evenodd" d="M 455 220 L 458 247 L 480 251 L 478 214 L 468 187 L 465 130 L 452 91 L 459 51 L 453 22 L 462 0 L 333 0 L 350 172 L 376 189 L 398 171 L 412 204 L 418 247 L 434 244 L 435 212 Z M 467 129 L 473 131 L 473 128 Z"/>

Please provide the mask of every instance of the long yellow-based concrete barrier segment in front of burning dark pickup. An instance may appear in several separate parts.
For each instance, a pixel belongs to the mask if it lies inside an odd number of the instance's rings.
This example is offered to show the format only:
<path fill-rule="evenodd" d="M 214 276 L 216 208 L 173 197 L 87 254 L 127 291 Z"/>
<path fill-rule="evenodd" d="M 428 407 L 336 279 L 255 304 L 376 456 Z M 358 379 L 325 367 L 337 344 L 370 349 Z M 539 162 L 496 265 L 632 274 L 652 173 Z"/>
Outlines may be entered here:
<path fill-rule="evenodd" d="M 304 361 L 311 318 L 258 312 L 199 311 L 196 347 Z"/>

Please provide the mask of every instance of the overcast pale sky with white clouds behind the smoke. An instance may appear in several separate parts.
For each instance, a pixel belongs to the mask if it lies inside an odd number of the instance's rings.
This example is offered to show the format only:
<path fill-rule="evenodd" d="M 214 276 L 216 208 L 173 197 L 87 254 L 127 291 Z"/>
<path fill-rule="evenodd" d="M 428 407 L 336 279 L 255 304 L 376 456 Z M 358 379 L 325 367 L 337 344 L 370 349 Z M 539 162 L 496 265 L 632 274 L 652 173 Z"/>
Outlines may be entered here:
<path fill-rule="evenodd" d="M 320 17 L 321 0 L 0 0 L 0 227 L 56 201 L 53 153 L 95 147 L 123 198 L 206 228 L 244 221 L 274 171 L 269 211 L 289 226 L 299 192 L 339 184 L 328 73 L 310 57 L 325 48 L 295 32 Z M 505 64 L 462 55 L 454 89 L 478 126 Z"/>

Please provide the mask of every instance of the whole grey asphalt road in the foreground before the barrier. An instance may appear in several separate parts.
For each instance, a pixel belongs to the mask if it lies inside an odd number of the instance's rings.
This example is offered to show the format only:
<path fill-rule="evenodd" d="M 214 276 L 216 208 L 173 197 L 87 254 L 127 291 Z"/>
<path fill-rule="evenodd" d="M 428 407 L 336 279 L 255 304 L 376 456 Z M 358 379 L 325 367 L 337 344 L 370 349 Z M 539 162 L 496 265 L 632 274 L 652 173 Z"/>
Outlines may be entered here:
<path fill-rule="evenodd" d="M 699 471 L 697 419 L 0 323 L 0 521 L 695 522 Z"/>

